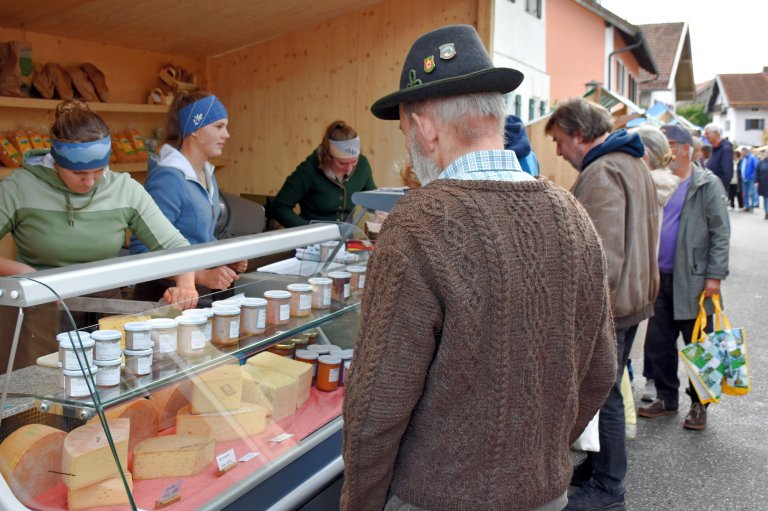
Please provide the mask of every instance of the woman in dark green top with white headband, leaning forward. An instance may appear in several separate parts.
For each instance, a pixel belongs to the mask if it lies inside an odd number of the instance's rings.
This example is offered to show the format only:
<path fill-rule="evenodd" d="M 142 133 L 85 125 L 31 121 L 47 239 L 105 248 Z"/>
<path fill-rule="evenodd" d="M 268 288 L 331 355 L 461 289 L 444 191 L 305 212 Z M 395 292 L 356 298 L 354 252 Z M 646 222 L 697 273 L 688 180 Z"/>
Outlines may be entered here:
<path fill-rule="evenodd" d="M 354 207 L 352 194 L 375 189 L 357 132 L 344 121 L 334 121 L 323 130 L 317 149 L 277 192 L 271 217 L 283 227 L 308 225 L 312 220 L 343 222 Z M 299 214 L 294 211 L 296 204 L 301 209 Z"/>

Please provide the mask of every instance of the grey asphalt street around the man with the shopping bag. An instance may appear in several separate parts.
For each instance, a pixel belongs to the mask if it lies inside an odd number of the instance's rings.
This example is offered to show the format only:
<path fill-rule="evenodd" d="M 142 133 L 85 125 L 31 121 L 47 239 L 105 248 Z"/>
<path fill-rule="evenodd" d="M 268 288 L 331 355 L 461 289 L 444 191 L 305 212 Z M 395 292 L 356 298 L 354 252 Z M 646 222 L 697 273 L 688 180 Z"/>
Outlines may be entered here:
<path fill-rule="evenodd" d="M 763 210 L 729 212 L 730 274 L 722 297 L 733 326 L 746 328 L 752 391 L 709 406 L 707 428 L 682 428 L 690 400 L 681 385 L 676 416 L 637 418 L 628 442 L 626 502 L 630 511 L 768 510 L 768 220 Z M 644 333 L 632 350 L 635 404 L 642 377 Z"/>

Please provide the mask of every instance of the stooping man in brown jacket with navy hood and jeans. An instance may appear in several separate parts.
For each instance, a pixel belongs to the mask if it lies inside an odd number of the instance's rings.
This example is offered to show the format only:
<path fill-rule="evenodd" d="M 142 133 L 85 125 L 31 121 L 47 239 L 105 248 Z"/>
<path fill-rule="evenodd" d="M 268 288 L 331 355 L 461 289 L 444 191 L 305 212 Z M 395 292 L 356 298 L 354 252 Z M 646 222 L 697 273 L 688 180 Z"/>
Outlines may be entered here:
<path fill-rule="evenodd" d="M 621 379 L 637 325 L 653 314 L 659 287 L 656 247 L 659 236 L 656 187 L 641 158 L 636 134 L 611 133 L 611 114 L 584 98 L 563 101 L 545 132 L 557 154 L 579 171 L 571 192 L 589 213 L 603 242 L 615 323 L 619 370 L 600 408 L 600 452 L 588 453 L 574 468 L 568 511 L 624 508 L 627 473 L 626 424 Z"/>

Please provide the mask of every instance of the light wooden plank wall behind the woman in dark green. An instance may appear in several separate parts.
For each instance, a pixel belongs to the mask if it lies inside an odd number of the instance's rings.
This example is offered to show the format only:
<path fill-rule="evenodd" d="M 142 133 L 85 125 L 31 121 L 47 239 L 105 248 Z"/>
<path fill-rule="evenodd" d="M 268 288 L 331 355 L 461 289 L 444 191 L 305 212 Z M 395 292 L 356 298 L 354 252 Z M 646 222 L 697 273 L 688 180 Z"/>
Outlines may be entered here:
<path fill-rule="evenodd" d="M 406 152 L 398 123 L 376 119 L 370 105 L 398 88 L 416 37 L 447 24 L 476 25 L 477 9 L 478 0 L 391 0 L 213 58 L 211 90 L 227 105 L 231 126 L 221 188 L 275 194 L 336 119 L 360 133 L 377 185 L 400 185 Z"/>

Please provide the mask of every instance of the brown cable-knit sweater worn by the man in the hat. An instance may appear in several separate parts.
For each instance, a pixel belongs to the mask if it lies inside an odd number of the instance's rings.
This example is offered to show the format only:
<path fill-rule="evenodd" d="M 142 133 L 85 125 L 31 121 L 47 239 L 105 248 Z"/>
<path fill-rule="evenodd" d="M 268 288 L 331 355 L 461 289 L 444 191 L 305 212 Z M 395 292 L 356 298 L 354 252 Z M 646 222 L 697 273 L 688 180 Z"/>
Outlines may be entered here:
<path fill-rule="evenodd" d="M 433 511 L 562 495 L 616 377 L 600 240 L 544 178 L 402 198 L 368 267 L 344 402 L 342 509 L 391 489 Z"/>

